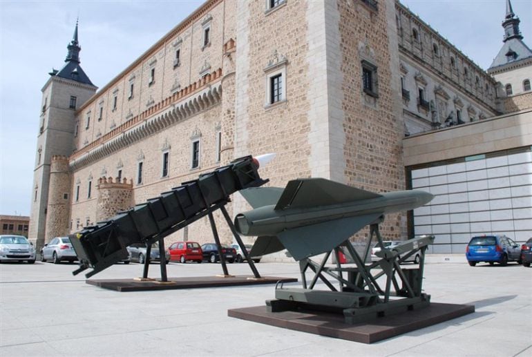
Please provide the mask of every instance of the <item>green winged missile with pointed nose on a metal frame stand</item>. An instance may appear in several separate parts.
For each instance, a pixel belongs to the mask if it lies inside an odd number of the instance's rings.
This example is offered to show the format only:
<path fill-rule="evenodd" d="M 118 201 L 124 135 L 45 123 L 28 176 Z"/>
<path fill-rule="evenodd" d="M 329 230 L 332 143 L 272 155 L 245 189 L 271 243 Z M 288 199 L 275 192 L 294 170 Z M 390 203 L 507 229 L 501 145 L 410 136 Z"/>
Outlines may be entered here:
<path fill-rule="evenodd" d="M 323 178 L 240 193 L 253 209 L 236 215 L 236 230 L 258 236 L 250 256 L 287 249 L 295 260 L 331 251 L 381 216 L 415 209 L 434 197 L 412 190 L 373 193 Z"/>

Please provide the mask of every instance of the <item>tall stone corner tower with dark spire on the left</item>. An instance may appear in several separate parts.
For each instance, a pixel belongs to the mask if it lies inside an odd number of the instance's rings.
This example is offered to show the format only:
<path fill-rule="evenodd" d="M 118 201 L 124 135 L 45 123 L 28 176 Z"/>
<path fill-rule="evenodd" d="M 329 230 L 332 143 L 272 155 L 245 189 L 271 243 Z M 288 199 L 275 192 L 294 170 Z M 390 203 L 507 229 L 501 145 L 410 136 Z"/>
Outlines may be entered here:
<path fill-rule="evenodd" d="M 50 222 L 52 216 L 57 217 L 57 214 L 48 214 L 49 201 L 57 204 L 64 200 L 68 203 L 66 206 L 70 205 L 70 192 L 64 189 L 69 185 L 61 182 L 59 185 L 61 192 L 57 191 L 57 185 L 50 186 L 50 175 L 55 175 L 50 173 L 52 158 L 68 157 L 75 149 L 76 110 L 97 90 L 80 66 L 79 52 L 82 48 L 78 41 L 78 21 L 67 49 L 64 66 L 61 70 L 52 70 L 48 81 L 41 89 L 43 95 L 33 174 L 31 224 L 28 232 L 28 238 L 36 244 L 37 249 L 54 238 L 46 236 L 47 231 L 53 231 L 46 229 L 46 225 L 52 224 Z M 52 181 L 57 182 L 57 180 Z M 68 212 L 61 213 L 65 214 L 68 215 Z M 68 232 L 67 226 L 64 226 L 64 231 Z"/>

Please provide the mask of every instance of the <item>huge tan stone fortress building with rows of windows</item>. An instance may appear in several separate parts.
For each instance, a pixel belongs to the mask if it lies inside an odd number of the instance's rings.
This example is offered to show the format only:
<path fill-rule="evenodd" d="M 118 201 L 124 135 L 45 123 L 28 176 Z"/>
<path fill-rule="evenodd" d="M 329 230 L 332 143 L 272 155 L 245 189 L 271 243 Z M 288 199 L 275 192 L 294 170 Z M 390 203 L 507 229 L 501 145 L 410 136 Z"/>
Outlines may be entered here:
<path fill-rule="evenodd" d="M 76 71 L 50 73 L 43 90 L 38 244 L 249 154 L 277 154 L 260 169 L 272 186 L 325 177 L 405 189 L 405 135 L 504 110 L 493 77 L 392 0 L 209 0 L 97 93 L 79 49 L 76 27 L 66 59 Z M 55 139 L 56 123 L 66 137 Z M 235 195 L 229 213 L 246 207 Z M 406 215 L 381 229 L 404 237 Z M 211 241 L 207 219 L 177 239 Z"/>

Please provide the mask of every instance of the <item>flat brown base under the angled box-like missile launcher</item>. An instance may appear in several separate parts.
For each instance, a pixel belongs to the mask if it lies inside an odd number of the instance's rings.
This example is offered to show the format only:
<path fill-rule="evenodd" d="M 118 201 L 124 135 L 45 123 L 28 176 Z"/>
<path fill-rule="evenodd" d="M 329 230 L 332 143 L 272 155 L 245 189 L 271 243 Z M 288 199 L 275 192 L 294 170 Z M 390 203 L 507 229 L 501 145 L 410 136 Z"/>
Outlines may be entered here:
<path fill-rule="evenodd" d="M 116 291 L 151 291 L 171 289 L 196 289 L 202 287 L 234 287 L 236 285 L 276 284 L 276 282 L 297 282 L 295 278 L 278 278 L 265 276 L 260 279 L 254 276 L 194 276 L 184 278 L 168 278 L 168 282 L 160 280 L 134 279 L 93 279 L 87 284 Z"/>

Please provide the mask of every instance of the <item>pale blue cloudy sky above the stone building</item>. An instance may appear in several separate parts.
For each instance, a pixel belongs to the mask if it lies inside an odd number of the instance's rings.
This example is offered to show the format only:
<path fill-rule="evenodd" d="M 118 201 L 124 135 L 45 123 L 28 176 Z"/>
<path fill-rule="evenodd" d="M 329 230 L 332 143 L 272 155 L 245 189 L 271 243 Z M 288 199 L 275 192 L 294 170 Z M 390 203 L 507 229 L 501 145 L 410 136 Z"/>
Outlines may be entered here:
<path fill-rule="evenodd" d="M 511 1 L 531 47 L 532 0 Z M 505 2 L 402 1 L 484 69 L 502 46 Z M 41 88 L 63 66 L 76 18 L 82 68 L 102 88 L 201 3 L 0 0 L 0 214 L 30 214 Z"/>

